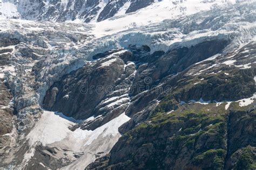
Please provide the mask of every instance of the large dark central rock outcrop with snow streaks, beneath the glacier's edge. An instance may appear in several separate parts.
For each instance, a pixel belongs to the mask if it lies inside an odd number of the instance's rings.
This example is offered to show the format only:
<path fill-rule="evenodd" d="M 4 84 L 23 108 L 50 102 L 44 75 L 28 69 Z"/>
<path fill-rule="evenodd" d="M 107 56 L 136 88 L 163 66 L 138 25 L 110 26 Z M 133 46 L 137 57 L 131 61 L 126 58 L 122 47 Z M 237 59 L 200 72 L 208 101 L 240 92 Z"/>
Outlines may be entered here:
<path fill-rule="evenodd" d="M 97 125 L 110 121 L 125 110 L 133 117 L 165 94 L 165 91 L 157 94 L 159 92 L 153 90 L 145 93 L 148 88 L 159 86 L 170 78 L 168 85 L 175 88 L 180 82 L 173 75 L 184 76 L 184 70 L 220 53 L 227 44 L 226 40 L 212 40 L 190 48 L 153 54 L 150 54 L 149 47 L 130 46 L 127 50 L 97 54 L 93 57 L 95 61 L 86 63 L 52 85 L 44 97 L 44 108 L 76 119 L 104 115 L 93 122 Z M 149 82 L 145 80 L 148 77 Z M 140 122 L 148 116 L 144 114 Z M 91 129 L 88 122 L 85 126 Z"/>

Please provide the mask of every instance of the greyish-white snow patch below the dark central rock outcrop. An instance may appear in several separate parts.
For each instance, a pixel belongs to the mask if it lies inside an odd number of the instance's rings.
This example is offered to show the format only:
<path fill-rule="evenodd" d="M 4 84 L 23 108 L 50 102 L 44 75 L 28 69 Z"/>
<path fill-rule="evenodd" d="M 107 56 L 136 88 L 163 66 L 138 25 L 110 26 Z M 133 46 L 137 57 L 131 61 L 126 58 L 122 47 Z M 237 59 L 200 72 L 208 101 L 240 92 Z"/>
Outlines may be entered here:
<path fill-rule="evenodd" d="M 42 144 L 49 147 L 60 147 L 62 150 L 72 150 L 74 153 L 83 152 L 84 154 L 80 159 L 63 169 L 84 169 L 96 159 L 96 153 L 103 152 L 106 154 L 111 150 L 121 136 L 118 128 L 130 120 L 123 113 L 93 131 L 81 129 L 71 131 L 69 127 L 75 125 L 75 123 L 72 118 L 72 121 L 69 121 L 69 119 L 63 118 L 63 116 L 59 116 L 59 114 L 52 111 L 44 111 L 41 119 L 26 136 L 30 148 L 24 156 L 21 167 L 33 157 L 35 147 Z M 91 120 L 92 118 L 88 118 L 85 121 Z"/>

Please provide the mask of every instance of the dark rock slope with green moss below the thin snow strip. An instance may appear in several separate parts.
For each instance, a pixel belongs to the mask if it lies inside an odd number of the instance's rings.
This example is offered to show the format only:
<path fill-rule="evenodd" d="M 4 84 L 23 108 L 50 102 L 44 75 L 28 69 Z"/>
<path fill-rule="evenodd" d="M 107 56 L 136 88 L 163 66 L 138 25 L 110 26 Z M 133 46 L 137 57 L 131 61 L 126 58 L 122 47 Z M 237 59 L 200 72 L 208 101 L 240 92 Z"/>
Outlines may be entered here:
<path fill-rule="evenodd" d="M 237 104 L 230 109 L 191 104 L 159 113 L 86 169 L 253 169 L 255 110 Z"/>

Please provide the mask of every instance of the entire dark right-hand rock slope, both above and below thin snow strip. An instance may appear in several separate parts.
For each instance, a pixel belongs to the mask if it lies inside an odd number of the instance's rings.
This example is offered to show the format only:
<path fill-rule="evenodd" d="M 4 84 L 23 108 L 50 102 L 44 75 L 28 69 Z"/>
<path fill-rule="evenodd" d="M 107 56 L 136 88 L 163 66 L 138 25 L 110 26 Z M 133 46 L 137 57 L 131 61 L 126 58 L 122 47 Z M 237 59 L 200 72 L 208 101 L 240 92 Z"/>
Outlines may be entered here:
<path fill-rule="evenodd" d="M 254 45 L 255 42 L 251 42 L 242 47 L 241 53 L 234 55 L 236 60 L 243 62 L 243 51 L 251 49 L 249 51 L 253 52 Z M 255 53 L 250 56 L 255 58 Z M 219 56 L 220 61 L 221 58 Z M 239 69 L 237 72 L 234 67 L 223 65 L 203 69 L 203 74 L 198 69 L 208 61 L 192 65 L 178 76 L 169 78 L 167 84 L 173 87 L 172 92 L 153 98 L 160 101 L 154 109 L 136 110 L 137 115 L 129 115 L 132 119 L 119 129 L 124 136 L 110 154 L 97 159 L 86 169 L 253 169 L 255 69 Z M 248 94 L 244 96 L 240 89 L 247 89 Z M 236 94 L 248 99 L 238 100 Z M 144 103 L 149 96 L 152 94 L 142 97 L 132 108 Z M 235 100 L 238 101 L 231 105 L 230 102 L 220 102 Z M 251 102 L 247 103 L 247 100 Z M 145 104 L 145 108 L 148 105 Z M 129 109 L 126 112 L 129 114 Z M 134 125 L 135 128 L 131 128 Z"/>

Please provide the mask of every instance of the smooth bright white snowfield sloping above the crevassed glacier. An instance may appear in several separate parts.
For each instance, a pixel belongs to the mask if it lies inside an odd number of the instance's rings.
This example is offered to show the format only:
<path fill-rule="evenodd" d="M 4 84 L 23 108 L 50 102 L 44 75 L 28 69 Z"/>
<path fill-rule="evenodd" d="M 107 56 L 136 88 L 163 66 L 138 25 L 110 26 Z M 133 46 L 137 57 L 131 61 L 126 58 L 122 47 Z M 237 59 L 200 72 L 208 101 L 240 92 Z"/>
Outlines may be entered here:
<path fill-rule="evenodd" d="M 165 19 L 175 19 L 192 15 L 199 11 L 207 11 L 214 8 L 214 6 L 227 6 L 234 3 L 235 0 L 228 0 L 227 2 L 217 0 L 207 3 L 203 3 L 201 0 L 187 0 L 183 3 L 173 0 L 163 0 L 136 12 L 124 15 L 117 13 L 117 15 L 112 18 L 96 23 L 96 28 L 93 33 L 97 37 L 102 37 L 134 27 L 162 22 Z"/>

